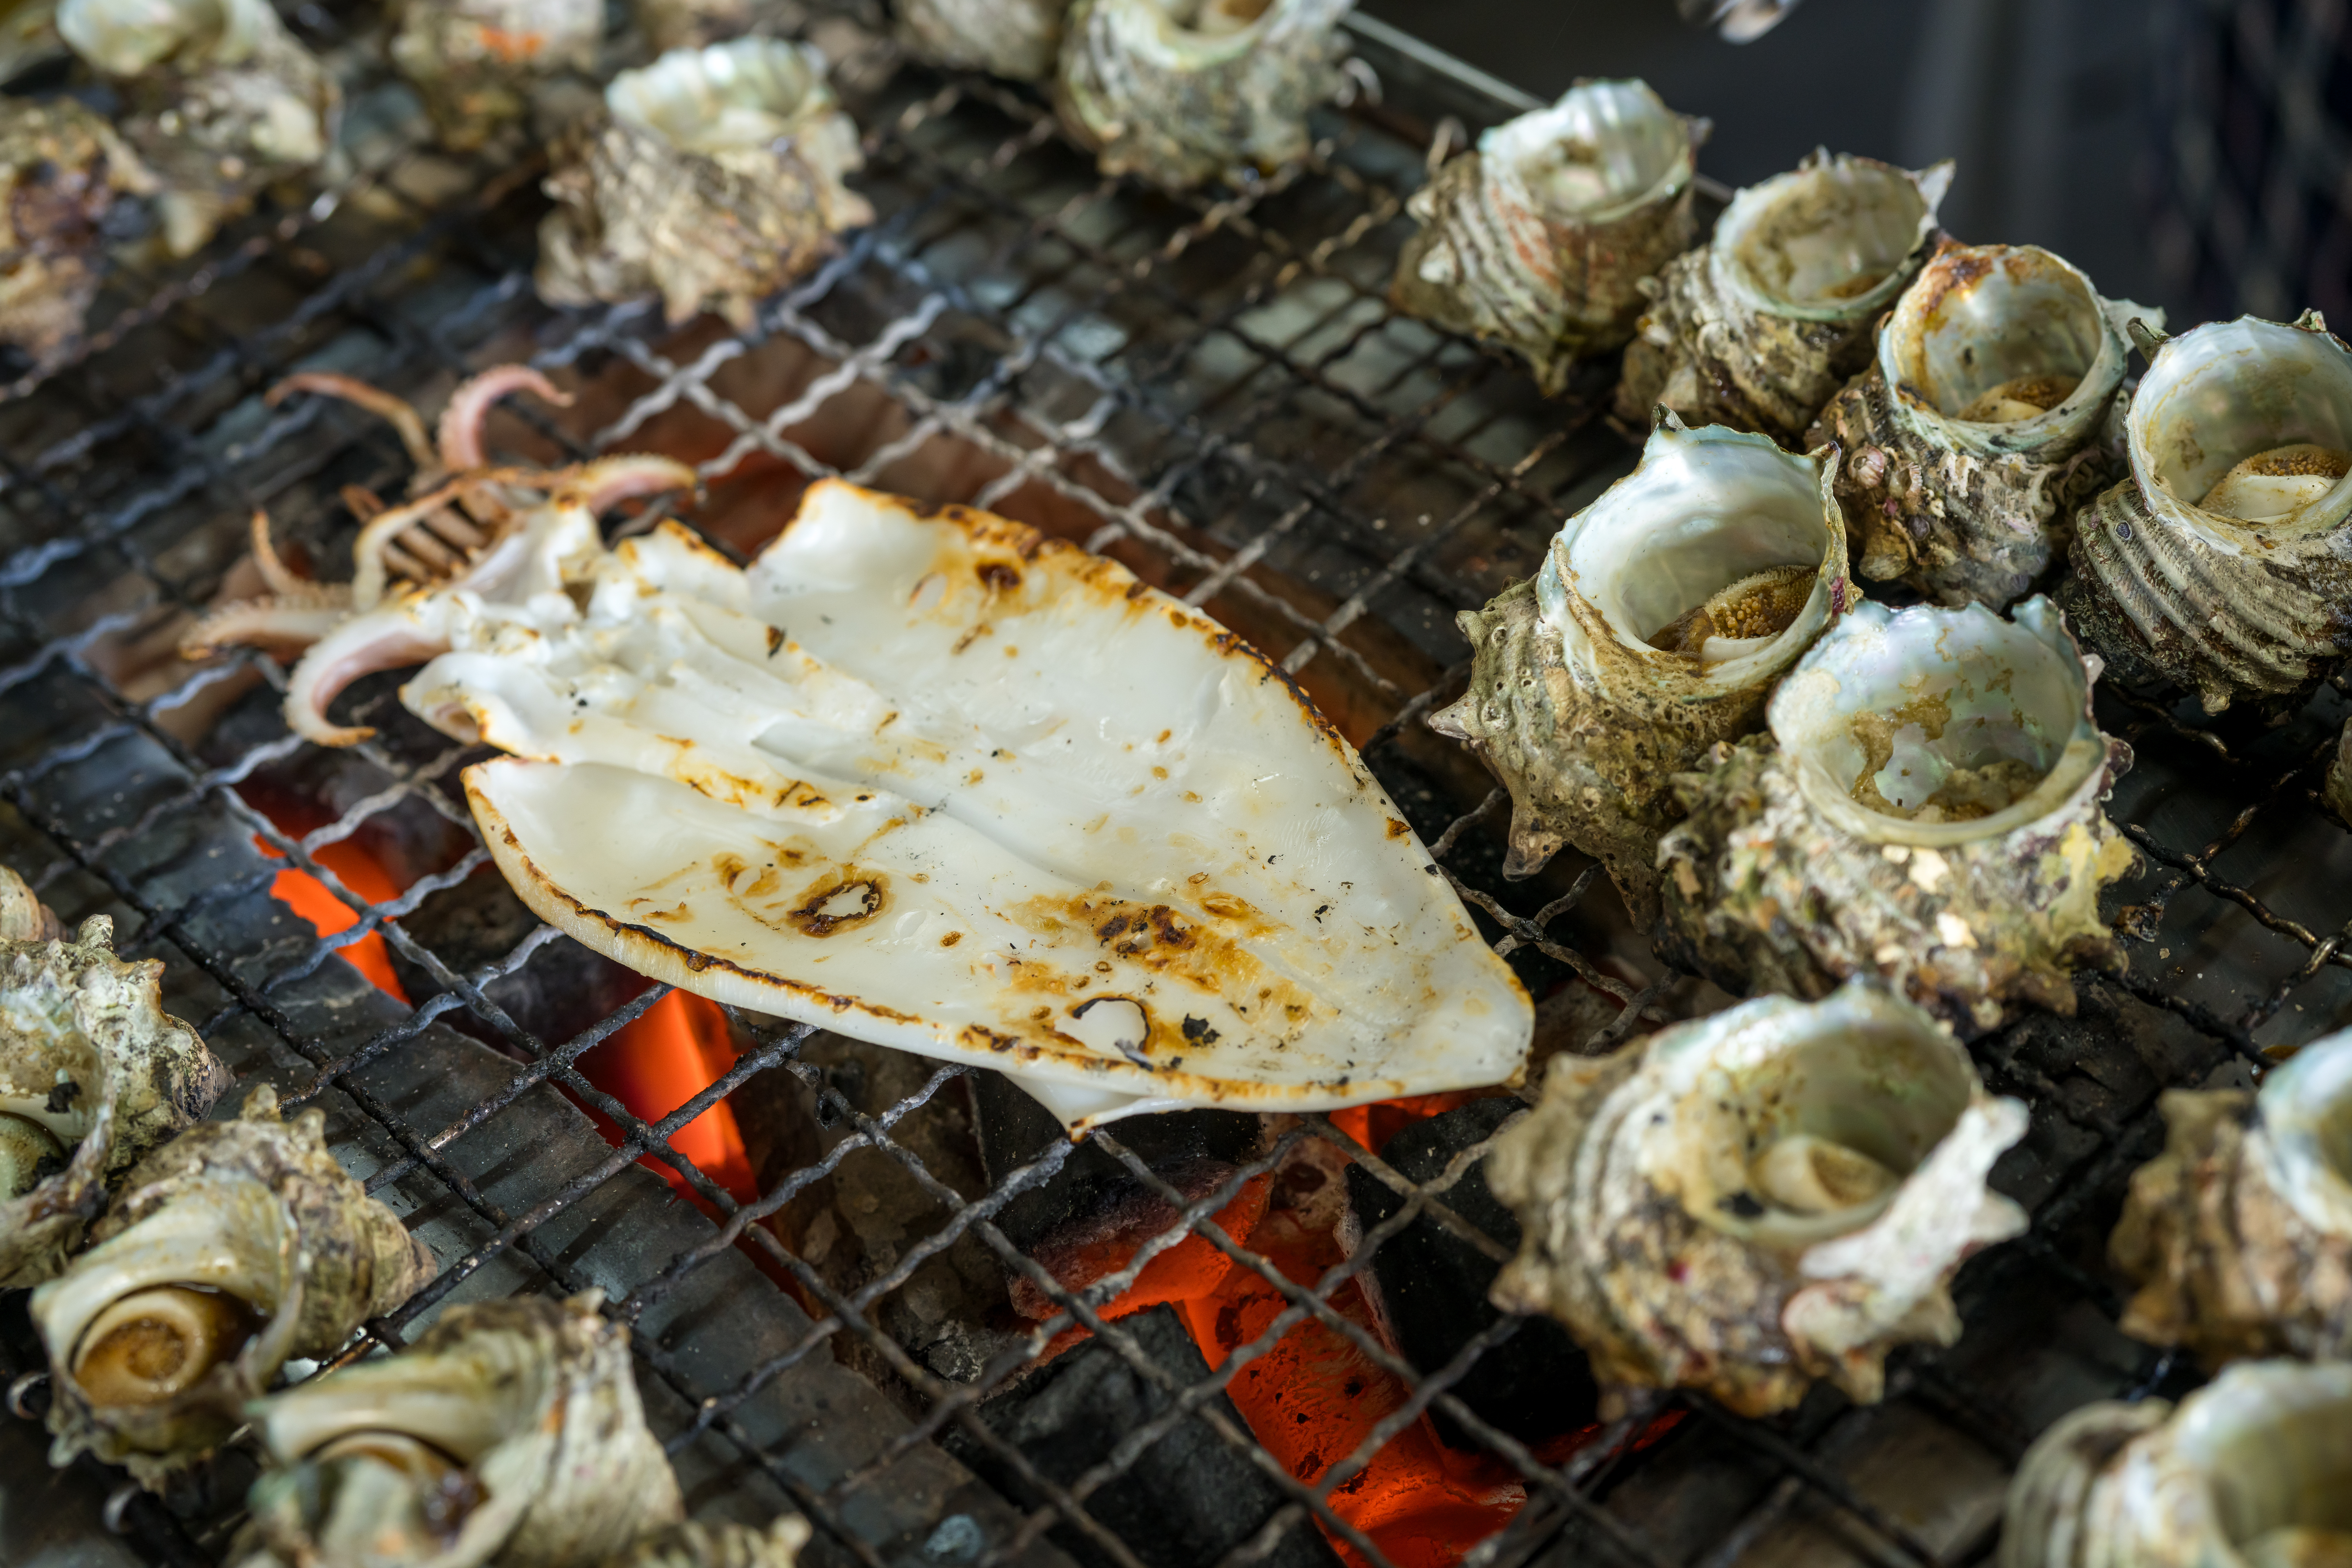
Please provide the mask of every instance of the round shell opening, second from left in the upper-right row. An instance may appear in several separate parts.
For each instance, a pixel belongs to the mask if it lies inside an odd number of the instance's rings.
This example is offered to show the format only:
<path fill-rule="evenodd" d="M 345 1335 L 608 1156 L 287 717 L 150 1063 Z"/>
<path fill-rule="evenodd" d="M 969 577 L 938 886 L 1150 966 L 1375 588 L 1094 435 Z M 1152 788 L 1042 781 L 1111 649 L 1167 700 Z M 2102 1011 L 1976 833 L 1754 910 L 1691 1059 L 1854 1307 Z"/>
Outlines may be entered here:
<path fill-rule="evenodd" d="M 1766 301 L 1785 306 L 1858 301 L 1903 266 L 1933 219 L 1910 174 L 1858 158 L 1740 195 L 1755 200 L 1724 214 L 1717 244 Z"/>

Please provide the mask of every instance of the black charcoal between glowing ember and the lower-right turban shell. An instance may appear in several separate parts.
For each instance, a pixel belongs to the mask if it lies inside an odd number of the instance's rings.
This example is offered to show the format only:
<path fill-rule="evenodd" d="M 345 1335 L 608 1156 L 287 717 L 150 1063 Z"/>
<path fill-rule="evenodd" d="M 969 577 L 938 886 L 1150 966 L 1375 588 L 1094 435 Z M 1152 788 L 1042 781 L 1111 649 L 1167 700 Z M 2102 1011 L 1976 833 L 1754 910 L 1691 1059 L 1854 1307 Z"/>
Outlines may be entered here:
<path fill-rule="evenodd" d="M 1517 1098 L 1475 1100 L 1442 1117 L 1430 1117 L 1388 1140 L 1381 1159 L 1414 1182 L 1432 1182 L 1461 1152 L 1491 1135 L 1519 1110 Z M 1371 1229 L 1404 1208 L 1404 1199 L 1362 1166 L 1348 1166 L 1348 1197 L 1355 1218 Z M 1486 1161 L 1470 1166 L 1444 1194 L 1446 1208 L 1501 1241 L 1519 1246 L 1519 1222 L 1486 1190 Z M 1494 1326 L 1501 1312 L 1486 1300 L 1503 1265 L 1423 1215 L 1381 1244 L 1371 1255 L 1381 1319 L 1397 1354 L 1421 1373 L 1435 1373 L 1472 1338 Z M 1550 1319 L 1519 1324 L 1501 1345 L 1472 1363 L 1454 1394 L 1477 1410 L 1479 1420 L 1529 1441 L 1573 1432 L 1597 1420 L 1599 1392 L 1585 1354 L 1566 1331 Z M 1456 1448 L 1482 1448 L 1461 1422 L 1430 1408 L 1437 1436 Z"/>

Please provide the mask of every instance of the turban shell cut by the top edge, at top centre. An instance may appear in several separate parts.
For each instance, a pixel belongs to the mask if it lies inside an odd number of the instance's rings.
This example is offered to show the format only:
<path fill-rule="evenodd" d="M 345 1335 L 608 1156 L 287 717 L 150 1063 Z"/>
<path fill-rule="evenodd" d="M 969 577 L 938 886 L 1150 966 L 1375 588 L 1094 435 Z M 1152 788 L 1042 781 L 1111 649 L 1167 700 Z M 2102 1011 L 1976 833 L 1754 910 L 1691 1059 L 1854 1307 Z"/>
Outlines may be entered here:
<path fill-rule="evenodd" d="M 1352 89 L 1352 0 L 1075 0 L 1054 101 L 1103 174 L 1169 190 L 1308 153 L 1308 110 Z"/>

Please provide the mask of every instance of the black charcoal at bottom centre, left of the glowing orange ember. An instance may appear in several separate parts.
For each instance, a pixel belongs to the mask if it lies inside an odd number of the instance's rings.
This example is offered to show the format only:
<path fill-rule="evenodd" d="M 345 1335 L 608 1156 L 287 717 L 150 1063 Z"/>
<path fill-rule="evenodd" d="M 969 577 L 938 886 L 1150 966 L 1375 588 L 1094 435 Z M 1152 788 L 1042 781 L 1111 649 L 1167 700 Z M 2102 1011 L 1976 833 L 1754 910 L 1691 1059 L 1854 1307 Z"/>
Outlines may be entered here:
<path fill-rule="evenodd" d="M 1174 1307 L 1152 1307 L 1120 1319 L 1120 1331 L 1176 1387 L 1209 1378 L 1192 1335 Z M 1028 1382 L 981 1406 L 990 1432 L 1009 1441 L 1037 1474 L 1070 1486 L 1103 1462 L 1112 1443 L 1176 1403 L 1171 1389 L 1148 1380 L 1101 1340 L 1070 1349 Z M 1242 1427 L 1232 1403 L 1218 1394 L 1209 1408 Z M 1021 1507 L 1044 1507 L 1040 1495 L 1000 1455 L 971 1434 L 953 1429 L 943 1446 Z M 1265 1528 L 1284 1502 L 1275 1483 L 1237 1448 L 1225 1443 L 1202 1415 L 1178 1422 L 1145 1448 L 1115 1481 L 1087 1495 L 1087 1514 L 1127 1542 L 1148 1568 L 1202 1568 Z M 1110 1554 L 1068 1521 L 1047 1537 L 1084 1568 L 1108 1568 Z M 1331 1568 L 1336 1559 L 1315 1526 L 1298 1521 L 1258 1559 L 1265 1568 Z"/>

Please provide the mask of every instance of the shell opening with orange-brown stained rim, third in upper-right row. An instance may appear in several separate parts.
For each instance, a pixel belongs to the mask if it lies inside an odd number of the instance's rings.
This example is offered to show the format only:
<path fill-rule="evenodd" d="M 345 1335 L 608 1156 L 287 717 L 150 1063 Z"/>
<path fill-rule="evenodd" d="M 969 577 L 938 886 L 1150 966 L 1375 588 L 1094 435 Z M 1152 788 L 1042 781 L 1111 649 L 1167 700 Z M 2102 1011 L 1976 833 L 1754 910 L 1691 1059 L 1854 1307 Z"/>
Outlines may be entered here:
<path fill-rule="evenodd" d="M 1938 414 L 2016 423 L 2072 397 L 2105 341 L 2089 277 L 2032 244 L 1980 244 L 1919 270 L 1886 322 L 1879 362 Z"/>

